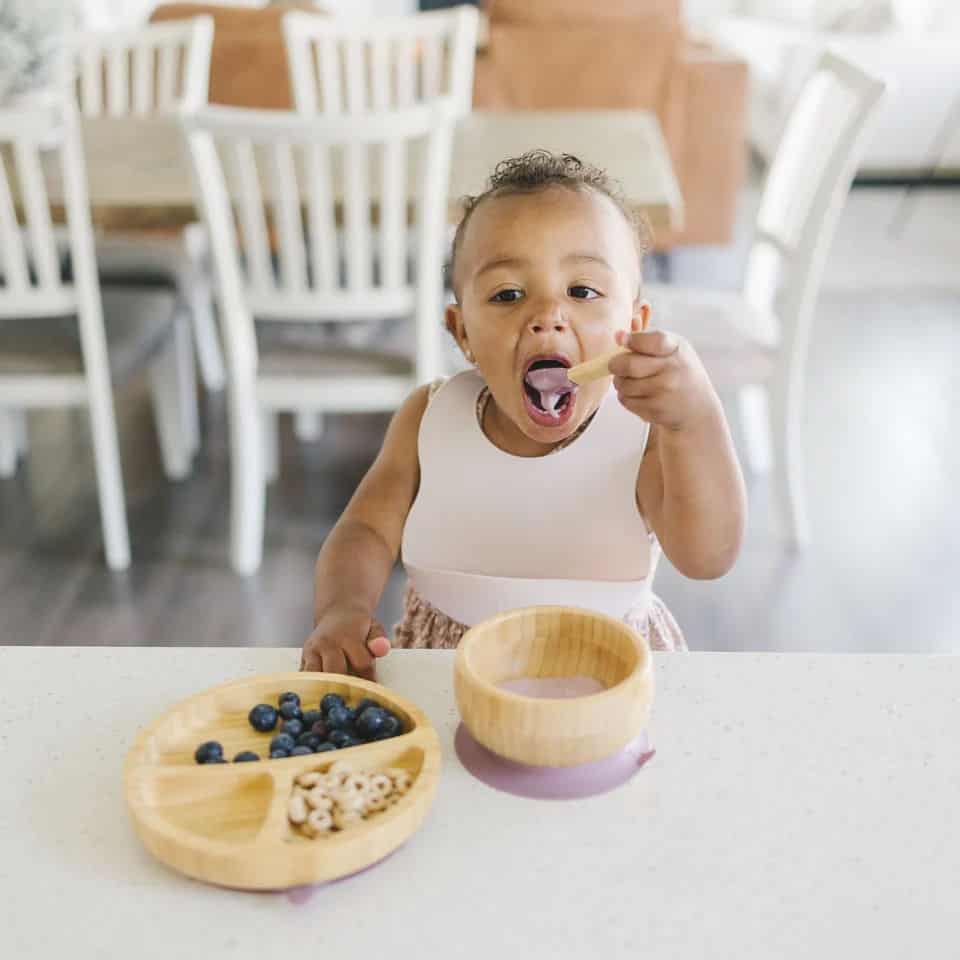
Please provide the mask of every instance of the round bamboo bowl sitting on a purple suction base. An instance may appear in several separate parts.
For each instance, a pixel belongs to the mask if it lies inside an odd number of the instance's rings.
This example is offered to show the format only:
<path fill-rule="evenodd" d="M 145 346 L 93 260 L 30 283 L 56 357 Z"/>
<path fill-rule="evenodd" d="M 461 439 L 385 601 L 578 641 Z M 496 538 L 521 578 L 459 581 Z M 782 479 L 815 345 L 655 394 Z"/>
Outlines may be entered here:
<path fill-rule="evenodd" d="M 606 688 L 541 699 L 500 685 L 586 676 Z M 518 763 L 569 767 L 621 750 L 646 727 L 653 666 L 646 641 L 611 617 L 573 607 L 529 607 L 467 632 L 454 689 L 464 725 L 488 750 Z"/>

